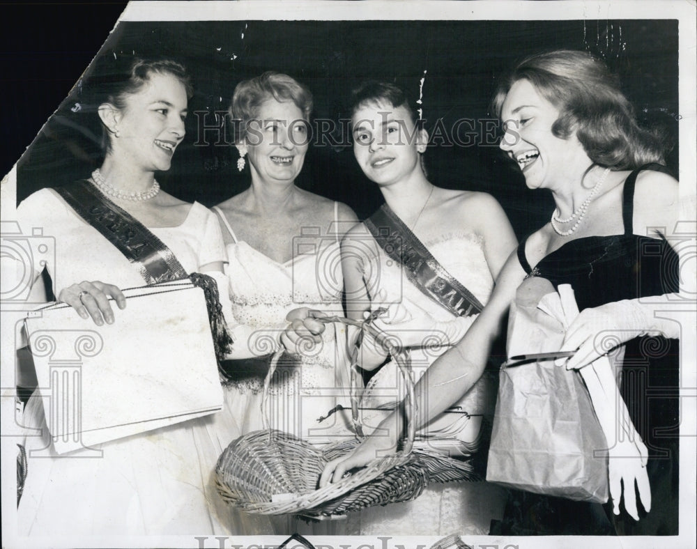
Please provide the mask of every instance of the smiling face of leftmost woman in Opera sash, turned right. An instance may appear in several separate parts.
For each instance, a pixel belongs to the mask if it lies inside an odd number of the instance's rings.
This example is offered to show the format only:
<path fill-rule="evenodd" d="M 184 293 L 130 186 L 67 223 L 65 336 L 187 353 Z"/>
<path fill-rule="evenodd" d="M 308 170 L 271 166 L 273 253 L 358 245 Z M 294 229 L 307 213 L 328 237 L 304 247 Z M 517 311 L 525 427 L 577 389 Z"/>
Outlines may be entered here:
<path fill-rule="evenodd" d="M 118 137 L 111 154 L 125 157 L 144 171 L 167 171 L 176 146 L 184 139 L 187 95 L 184 85 L 167 73 L 151 72 L 136 93 L 123 98 L 122 109 L 110 107 Z"/>

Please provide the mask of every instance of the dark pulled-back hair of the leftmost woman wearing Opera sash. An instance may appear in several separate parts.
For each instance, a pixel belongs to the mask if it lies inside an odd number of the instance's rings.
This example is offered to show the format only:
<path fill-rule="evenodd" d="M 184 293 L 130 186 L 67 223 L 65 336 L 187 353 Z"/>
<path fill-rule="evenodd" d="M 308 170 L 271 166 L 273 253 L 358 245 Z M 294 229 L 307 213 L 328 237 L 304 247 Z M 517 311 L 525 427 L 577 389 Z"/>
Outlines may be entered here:
<path fill-rule="evenodd" d="M 153 74 L 173 76 L 184 86 L 187 99 L 194 95 L 191 79 L 181 63 L 164 58 L 119 58 L 114 54 L 102 56 L 95 63 L 95 70 L 86 79 L 84 87 L 94 108 L 102 103 L 111 103 L 117 109 L 123 109 L 125 98 L 138 93 Z M 102 125 L 102 151 L 106 153 L 110 149 L 111 137 Z"/>

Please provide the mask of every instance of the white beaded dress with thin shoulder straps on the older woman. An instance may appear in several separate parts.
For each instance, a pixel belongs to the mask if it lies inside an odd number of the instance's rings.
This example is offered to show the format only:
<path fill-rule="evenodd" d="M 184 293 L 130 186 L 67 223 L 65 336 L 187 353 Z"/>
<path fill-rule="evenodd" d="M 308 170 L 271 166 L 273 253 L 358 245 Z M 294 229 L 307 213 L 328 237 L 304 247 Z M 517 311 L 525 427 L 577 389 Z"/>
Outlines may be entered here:
<path fill-rule="evenodd" d="M 335 203 L 335 226 L 337 207 Z M 344 315 L 338 235 L 330 233 L 319 245 L 316 238 L 309 238 L 307 246 L 301 236 L 295 242 L 298 253 L 286 263 L 278 263 L 238 240 L 222 212 L 215 209 L 234 240 L 227 245 L 232 314 L 236 323 L 247 328 L 242 333 L 250 335 L 248 341 L 236 341 L 233 345 L 256 346 L 256 354 L 270 352 L 269 340 L 256 339 L 254 331 L 275 335 L 275 330 L 285 325 L 286 314 L 298 307 Z M 337 412 L 322 422 L 319 419 L 337 405 L 350 408 L 344 325 L 326 325 L 321 343 L 308 343 L 300 350 L 300 355 L 284 353 L 279 360 L 266 408 L 270 426 L 313 444 L 334 442 L 338 433 L 346 435 L 350 412 Z M 225 398 L 245 434 L 266 428 L 261 389 L 269 357 L 236 362 L 246 362 L 245 371 L 227 382 Z"/>

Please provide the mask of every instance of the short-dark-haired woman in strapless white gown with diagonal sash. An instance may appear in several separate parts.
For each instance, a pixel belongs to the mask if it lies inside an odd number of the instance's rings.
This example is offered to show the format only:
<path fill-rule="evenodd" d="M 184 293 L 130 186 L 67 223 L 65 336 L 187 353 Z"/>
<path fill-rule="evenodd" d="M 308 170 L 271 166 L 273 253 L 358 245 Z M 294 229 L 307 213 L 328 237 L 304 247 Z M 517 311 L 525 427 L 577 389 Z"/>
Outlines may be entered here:
<path fill-rule="evenodd" d="M 473 323 L 477 315 L 468 315 L 467 304 L 474 305 L 473 311 L 481 310 L 516 240 L 505 213 L 491 196 L 445 190 L 429 182 L 421 157 L 428 134 L 418 126 L 399 88 L 375 82 L 361 86 L 353 95 L 352 125 L 356 160 L 380 187 L 386 204 L 348 231 L 342 243 L 348 315 L 359 319 L 368 311 L 392 305 L 394 316 L 378 317 L 376 324 L 392 341 L 409 349 L 418 379 Z M 381 244 L 385 230 L 397 239 Z M 395 246 L 402 251 L 395 254 Z M 417 254 L 420 261 L 415 261 L 411 254 L 423 247 L 427 255 Z M 434 261 L 426 259 L 428 254 Z M 437 265 L 425 278 L 423 263 Z M 436 274 L 434 279 L 431 275 Z M 392 327 L 391 323 L 405 317 L 412 319 L 409 332 Z M 394 405 L 404 394 L 395 363 L 372 339 L 360 342 L 359 364 L 367 370 L 379 367 L 360 403 L 368 434 L 388 415 L 376 408 Z M 459 410 L 435 418 L 417 436 L 429 440 L 433 449 L 467 456 L 476 451 L 481 415 L 493 412 L 495 399 L 491 385 L 482 378 L 457 403 Z M 491 519 L 503 513 L 503 504 L 503 490 L 482 481 L 431 484 L 412 502 L 351 513 L 348 532 L 487 534 Z"/>

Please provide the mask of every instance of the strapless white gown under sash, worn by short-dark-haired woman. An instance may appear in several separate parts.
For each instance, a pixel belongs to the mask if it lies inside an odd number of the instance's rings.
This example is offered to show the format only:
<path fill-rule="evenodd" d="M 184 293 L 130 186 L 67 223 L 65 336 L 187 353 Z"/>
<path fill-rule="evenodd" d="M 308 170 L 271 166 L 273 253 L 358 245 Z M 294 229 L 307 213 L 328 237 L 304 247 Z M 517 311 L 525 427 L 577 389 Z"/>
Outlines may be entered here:
<path fill-rule="evenodd" d="M 473 233 L 443 235 L 436 241 L 424 242 L 431 254 L 454 278 L 459 280 L 480 302 L 486 304 L 493 288 L 493 279 L 487 266 L 482 238 Z M 362 270 L 368 288 L 373 294 L 385 292 L 384 302 L 399 302 L 403 297 L 418 304 L 434 320 L 448 321 L 455 317 L 441 305 L 426 297 L 407 279 L 404 270 L 396 265 L 376 243 L 365 246 Z M 382 294 L 381 294 L 382 295 Z M 374 306 L 376 303 L 374 303 Z M 469 325 L 476 316 L 469 316 Z M 424 331 L 429 330 L 424 325 Z M 411 348 L 412 369 L 418 380 L 436 358 L 450 348 Z M 362 408 L 374 408 L 387 401 L 395 401 L 401 387 L 394 363 L 388 362 L 368 382 L 361 401 Z M 493 414 L 496 389 L 487 378 L 482 378 L 456 405 L 470 414 Z M 384 412 L 362 410 L 362 422 L 376 426 Z M 481 417 L 467 418 L 462 414 L 442 414 L 429 423 L 430 433 L 460 431 L 461 438 L 473 441 L 479 431 Z M 418 433 L 417 433 L 418 434 Z M 491 519 L 503 516 L 505 490 L 484 481 L 450 484 L 431 484 L 422 495 L 411 502 L 370 507 L 349 513 L 347 534 L 352 535 L 449 535 L 488 534 Z"/>

